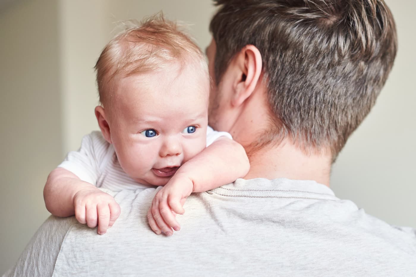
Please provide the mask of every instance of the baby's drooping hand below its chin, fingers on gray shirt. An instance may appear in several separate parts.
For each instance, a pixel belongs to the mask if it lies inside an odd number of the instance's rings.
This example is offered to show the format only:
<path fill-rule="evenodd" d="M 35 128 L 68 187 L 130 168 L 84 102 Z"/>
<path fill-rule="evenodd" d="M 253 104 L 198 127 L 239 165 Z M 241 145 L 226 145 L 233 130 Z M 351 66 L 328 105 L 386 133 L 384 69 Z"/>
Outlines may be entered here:
<path fill-rule="evenodd" d="M 176 173 L 171 180 L 159 190 L 153 198 L 147 213 L 149 225 L 156 234 L 163 232 L 172 235 L 173 230 L 179 231 L 181 226 L 176 221 L 176 214 L 183 214 L 182 206 L 193 191 L 193 182 L 185 174 Z"/>

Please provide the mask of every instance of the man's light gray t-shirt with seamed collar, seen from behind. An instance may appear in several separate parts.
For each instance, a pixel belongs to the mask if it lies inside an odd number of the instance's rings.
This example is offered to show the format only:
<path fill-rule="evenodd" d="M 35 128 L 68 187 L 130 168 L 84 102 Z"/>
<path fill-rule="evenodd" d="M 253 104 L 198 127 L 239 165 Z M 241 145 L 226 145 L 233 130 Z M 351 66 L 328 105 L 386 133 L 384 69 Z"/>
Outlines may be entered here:
<path fill-rule="evenodd" d="M 314 181 L 243 180 L 191 195 L 181 230 L 156 235 L 157 188 L 114 195 L 105 235 L 50 217 L 6 276 L 416 276 L 416 232 L 340 200 Z"/>

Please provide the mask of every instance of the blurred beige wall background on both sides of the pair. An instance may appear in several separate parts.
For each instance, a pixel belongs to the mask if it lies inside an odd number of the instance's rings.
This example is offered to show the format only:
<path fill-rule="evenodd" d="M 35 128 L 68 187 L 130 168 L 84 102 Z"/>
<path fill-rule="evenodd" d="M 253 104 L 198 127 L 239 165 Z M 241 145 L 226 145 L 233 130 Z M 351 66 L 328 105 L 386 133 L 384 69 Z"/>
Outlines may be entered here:
<path fill-rule="evenodd" d="M 413 0 L 386 0 L 399 52 L 376 106 L 332 171 L 332 189 L 367 213 L 416 228 L 416 43 Z M 0 274 L 49 213 L 48 173 L 98 129 L 93 67 L 114 22 L 163 10 L 192 23 L 205 48 L 210 0 L 0 0 Z"/>

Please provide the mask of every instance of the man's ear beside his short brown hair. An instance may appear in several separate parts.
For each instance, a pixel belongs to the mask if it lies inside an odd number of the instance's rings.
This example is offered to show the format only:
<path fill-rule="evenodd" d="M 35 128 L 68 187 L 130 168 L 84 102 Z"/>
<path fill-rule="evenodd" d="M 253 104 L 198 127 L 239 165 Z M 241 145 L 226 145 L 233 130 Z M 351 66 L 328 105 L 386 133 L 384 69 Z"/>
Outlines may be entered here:
<path fill-rule="evenodd" d="M 236 80 L 231 103 L 233 106 L 239 106 L 254 92 L 260 82 L 262 57 L 257 47 L 246 45 L 236 56 L 235 62 L 240 72 L 240 78 Z"/>

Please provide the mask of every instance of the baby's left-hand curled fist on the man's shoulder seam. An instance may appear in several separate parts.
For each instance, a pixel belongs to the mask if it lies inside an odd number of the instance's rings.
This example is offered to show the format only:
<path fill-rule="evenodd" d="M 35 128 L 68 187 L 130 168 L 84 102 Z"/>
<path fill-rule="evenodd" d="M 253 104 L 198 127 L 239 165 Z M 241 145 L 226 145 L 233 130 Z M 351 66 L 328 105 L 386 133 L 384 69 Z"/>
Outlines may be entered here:
<path fill-rule="evenodd" d="M 87 223 L 97 233 L 104 235 L 120 215 L 120 206 L 114 198 L 98 188 L 83 188 L 74 195 L 75 218 Z"/>

